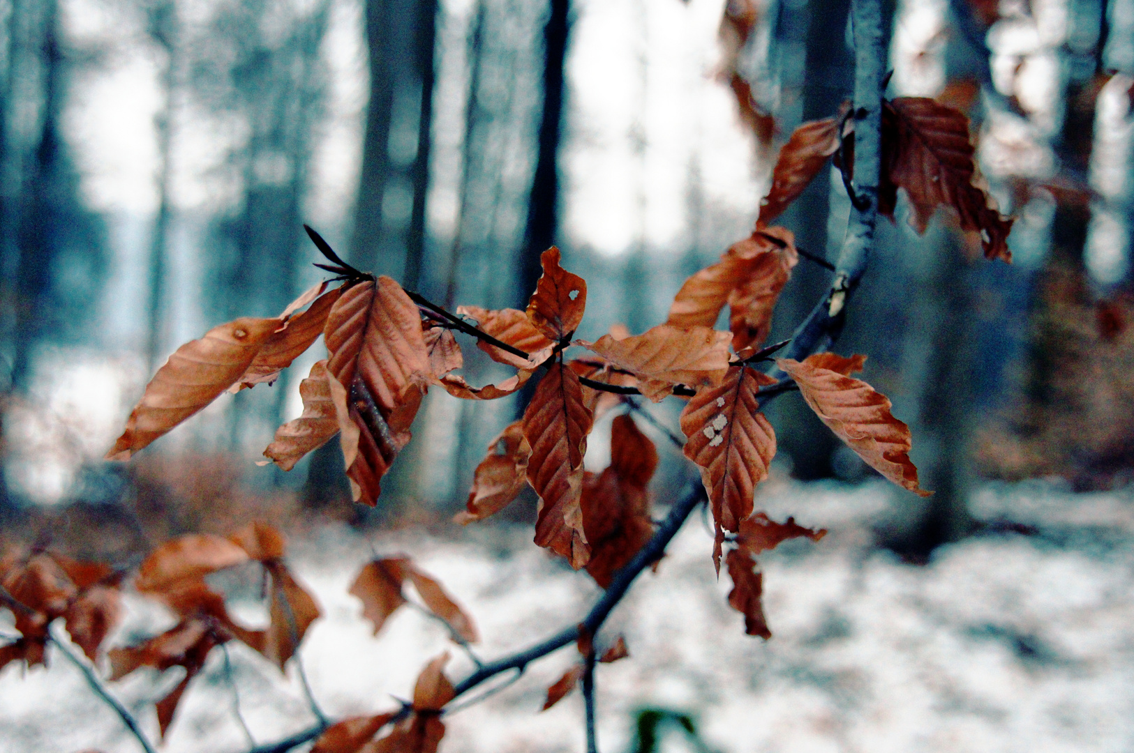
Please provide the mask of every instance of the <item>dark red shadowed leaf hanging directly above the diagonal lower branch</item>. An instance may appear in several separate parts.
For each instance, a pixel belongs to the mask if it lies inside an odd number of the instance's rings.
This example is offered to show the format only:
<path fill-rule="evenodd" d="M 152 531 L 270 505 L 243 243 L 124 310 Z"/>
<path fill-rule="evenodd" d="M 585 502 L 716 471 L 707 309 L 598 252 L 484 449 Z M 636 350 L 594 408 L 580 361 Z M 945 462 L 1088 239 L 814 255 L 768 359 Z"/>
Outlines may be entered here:
<path fill-rule="evenodd" d="M 629 416 L 618 416 L 610 431 L 610 467 L 583 480 L 583 529 L 591 545 L 586 572 L 609 588 L 653 536 L 646 487 L 658 468 L 658 451 Z"/>

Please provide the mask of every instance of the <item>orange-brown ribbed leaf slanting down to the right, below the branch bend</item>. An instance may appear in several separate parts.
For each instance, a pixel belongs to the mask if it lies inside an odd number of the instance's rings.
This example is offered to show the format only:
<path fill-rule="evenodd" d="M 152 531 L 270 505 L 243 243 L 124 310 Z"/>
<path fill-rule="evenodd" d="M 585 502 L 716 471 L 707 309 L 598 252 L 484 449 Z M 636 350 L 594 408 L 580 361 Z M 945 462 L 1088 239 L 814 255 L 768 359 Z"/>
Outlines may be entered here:
<path fill-rule="evenodd" d="M 909 427 L 894 418 L 886 395 L 847 376 L 860 370 L 864 359 L 816 353 L 802 363 L 792 359 L 776 363 L 799 385 L 803 399 L 820 420 L 868 465 L 898 486 L 928 497 L 931 493 L 917 485 L 917 469 L 909 460 Z"/>

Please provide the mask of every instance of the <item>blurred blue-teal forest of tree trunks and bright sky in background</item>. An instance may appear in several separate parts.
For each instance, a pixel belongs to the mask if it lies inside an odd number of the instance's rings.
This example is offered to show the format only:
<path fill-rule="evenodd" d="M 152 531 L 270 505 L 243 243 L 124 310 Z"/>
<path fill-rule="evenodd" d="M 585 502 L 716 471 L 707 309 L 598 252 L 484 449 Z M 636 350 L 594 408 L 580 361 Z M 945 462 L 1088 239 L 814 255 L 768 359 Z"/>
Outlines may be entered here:
<path fill-rule="evenodd" d="M 253 463 L 299 413 L 287 373 L 130 465 L 101 457 L 179 343 L 273 316 L 320 279 L 304 222 L 355 266 L 449 306 L 522 307 L 557 243 L 591 285 L 581 336 L 662 320 L 682 281 L 750 232 L 778 145 L 849 97 L 848 6 L 5 0 L 3 525 L 49 516 L 67 536 L 117 521 L 125 534 L 99 546 L 122 553 L 217 528 L 248 500 L 277 520 L 448 519 L 509 400 L 431 392 L 373 514 L 352 510 L 337 443 L 289 473 Z M 1017 217 L 1006 265 L 978 259 L 948 216 L 917 236 L 899 204 L 838 344 L 870 357 L 937 491 L 903 498 L 878 532 L 917 561 L 973 530 L 981 479 L 1131 479 L 1134 0 L 890 0 L 887 34 L 889 95 L 967 112 L 983 176 Z M 848 206 L 832 172 L 784 224 L 833 258 Z M 773 341 L 828 274 L 801 264 Z M 469 363 L 468 378 L 492 368 Z M 772 409 L 781 472 L 872 473 L 803 405 Z M 679 408 L 658 416 L 676 426 Z"/>

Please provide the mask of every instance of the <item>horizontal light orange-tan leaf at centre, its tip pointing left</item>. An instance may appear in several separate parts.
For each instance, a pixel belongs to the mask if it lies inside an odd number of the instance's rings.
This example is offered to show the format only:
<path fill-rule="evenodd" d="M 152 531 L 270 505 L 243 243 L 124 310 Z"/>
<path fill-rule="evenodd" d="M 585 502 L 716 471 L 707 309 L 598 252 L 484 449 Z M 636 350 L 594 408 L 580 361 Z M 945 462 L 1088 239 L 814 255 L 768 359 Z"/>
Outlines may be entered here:
<path fill-rule="evenodd" d="M 660 390 L 641 386 L 642 394 L 657 402 L 670 392 L 666 385 L 719 384 L 728 369 L 731 340 L 729 333 L 709 327 L 661 324 L 624 340 L 602 335 L 598 342 L 577 344 L 640 377 L 663 383 Z"/>

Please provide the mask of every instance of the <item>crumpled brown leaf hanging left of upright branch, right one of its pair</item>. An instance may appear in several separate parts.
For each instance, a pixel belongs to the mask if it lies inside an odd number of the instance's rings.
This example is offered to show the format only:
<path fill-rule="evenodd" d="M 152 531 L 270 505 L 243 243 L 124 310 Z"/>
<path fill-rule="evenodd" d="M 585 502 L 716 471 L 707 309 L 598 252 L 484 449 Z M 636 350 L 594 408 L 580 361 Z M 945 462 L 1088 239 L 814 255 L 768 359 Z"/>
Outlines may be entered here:
<path fill-rule="evenodd" d="M 761 345 L 772 328 L 772 313 L 780 291 L 799 262 L 795 238 L 785 228 L 758 230 L 754 238 L 767 241 L 754 255 L 744 280 L 728 294 L 733 350 Z"/>

